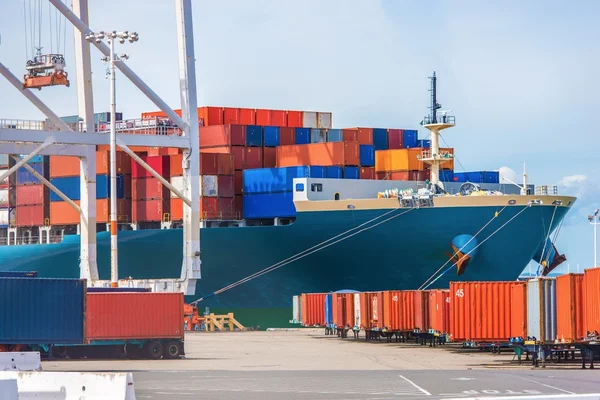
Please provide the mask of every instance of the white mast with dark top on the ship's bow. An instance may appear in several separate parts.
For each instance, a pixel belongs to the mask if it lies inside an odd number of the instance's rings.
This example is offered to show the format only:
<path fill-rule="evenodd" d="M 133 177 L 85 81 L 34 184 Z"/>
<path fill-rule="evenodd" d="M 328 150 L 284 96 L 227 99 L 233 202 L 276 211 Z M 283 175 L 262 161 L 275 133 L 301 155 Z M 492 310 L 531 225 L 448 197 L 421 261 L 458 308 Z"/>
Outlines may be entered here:
<path fill-rule="evenodd" d="M 431 148 L 423 149 L 420 158 L 421 161 L 431 164 L 431 178 L 429 181 L 432 185 L 438 185 L 440 182 L 440 165 L 449 162 L 454 158 L 454 155 L 450 154 L 448 151 L 440 152 L 439 132 L 442 129 L 454 127 L 455 120 L 454 116 L 447 115 L 447 113 L 452 110 L 440 111 L 442 114 L 441 117 L 437 116 L 438 110 L 442 108 L 442 105 L 437 102 L 437 78 L 435 76 L 435 71 L 433 71 L 433 76 L 429 77 L 429 79 L 431 79 L 431 88 L 429 89 L 431 92 L 431 105 L 429 106 L 431 111 L 429 115 L 421 121 L 421 125 L 431 132 Z"/>

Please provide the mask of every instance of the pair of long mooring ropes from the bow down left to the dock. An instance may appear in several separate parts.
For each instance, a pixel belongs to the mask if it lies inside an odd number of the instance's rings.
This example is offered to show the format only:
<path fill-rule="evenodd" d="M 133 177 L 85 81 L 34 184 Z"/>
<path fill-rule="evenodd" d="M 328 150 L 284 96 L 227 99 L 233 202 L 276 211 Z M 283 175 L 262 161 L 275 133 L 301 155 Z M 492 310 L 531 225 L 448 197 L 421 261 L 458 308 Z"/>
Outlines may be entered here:
<path fill-rule="evenodd" d="M 354 232 L 354 233 L 352 233 L 352 234 L 350 234 L 348 236 L 342 237 L 341 239 L 337 239 L 337 238 L 339 238 L 341 236 L 346 235 L 349 232 L 352 232 L 352 231 L 354 231 L 354 230 L 356 230 L 358 228 L 361 228 L 361 227 L 363 227 L 363 226 L 365 226 L 367 224 L 370 224 L 371 222 L 374 222 L 377 219 L 383 218 L 383 217 L 385 217 L 385 216 L 387 216 L 387 215 L 389 215 L 389 214 L 391 214 L 393 212 L 396 212 L 396 211 L 402 210 L 402 209 L 401 208 L 395 208 L 393 210 L 390 210 L 390 211 L 388 211 L 388 212 L 386 212 L 384 214 L 381 214 L 381 215 L 379 215 L 379 216 L 377 216 L 377 217 L 375 217 L 373 219 L 370 219 L 369 221 L 364 222 L 364 223 L 362 223 L 362 224 L 360 224 L 360 225 L 358 225 L 358 226 L 356 226 L 356 227 L 354 227 L 352 229 L 349 229 L 349 230 L 347 230 L 345 232 L 342 232 L 342 233 L 340 233 L 340 234 L 338 234 L 338 235 L 336 235 L 336 236 L 334 236 L 332 238 L 329 238 L 329 239 L 327 239 L 327 240 L 325 240 L 323 242 L 320 242 L 320 243 L 318 243 L 318 244 L 316 244 L 316 245 L 314 245 L 314 246 L 312 246 L 312 247 L 310 247 L 310 248 L 308 248 L 306 250 L 303 250 L 300 253 L 297 253 L 297 254 L 295 254 L 295 255 L 293 255 L 291 257 L 288 257 L 285 260 L 279 261 L 278 263 L 275 263 L 275 264 L 273 264 L 273 265 L 271 265 L 271 266 L 269 266 L 269 267 L 267 267 L 267 268 L 265 268 L 265 269 L 263 269 L 261 271 L 255 272 L 254 274 L 249 275 L 246 278 L 240 279 L 237 282 L 234 282 L 234 283 L 232 283 L 232 284 L 230 284 L 228 286 L 225 286 L 225 287 L 223 287 L 223 288 L 221 288 L 219 290 L 214 291 L 213 293 L 210 293 L 210 294 L 208 294 L 206 296 L 203 296 L 203 297 L 199 298 L 198 300 L 195 300 L 195 301 L 191 302 L 190 304 L 195 305 L 195 304 L 197 304 L 197 303 L 201 302 L 202 300 L 205 300 L 205 299 L 207 299 L 209 297 L 212 297 L 212 296 L 215 296 L 217 294 L 221 294 L 221 293 L 223 293 L 223 292 L 225 292 L 227 290 L 233 289 L 236 286 L 239 286 L 239 285 L 241 285 L 243 283 L 251 281 L 251 280 L 253 280 L 255 278 L 258 278 L 258 277 L 260 277 L 262 275 L 265 275 L 265 274 L 267 274 L 269 272 L 275 271 L 276 269 L 279 269 L 279 268 L 281 268 L 281 267 L 283 267 L 285 265 L 288 265 L 288 264 L 290 264 L 292 262 L 298 261 L 298 260 L 300 260 L 300 259 L 302 259 L 302 258 L 304 258 L 306 256 L 309 256 L 309 255 L 311 255 L 313 253 L 316 253 L 317 251 L 321 251 L 321 250 L 323 250 L 323 249 L 325 249 L 325 248 L 327 248 L 329 246 L 332 246 L 332 245 L 334 245 L 336 243 L 339 243 L 339 242 L 341 242 L 343 240 L 346 240 L 346 239 L 349 239 L 349 238 L 351 238 L 351 237 L 353 237 L 355 235 L 358 235 L 361 232 L 373 229 L 376 226 L 379 226 L 379 225 L 381 225 L 381 224 L 383 224 L 385 222 L 388 222 L 388 221 L 390 221 L 392 219 L 398 218 L 398 217 L 400 217 L 400 216 L 402 216 L 404 214 L 407 214 L 410 211 L 413 211 L 413 210 L 415 210 L 417 208 L 418 207 L 409 208 L 408 210 L 405 210 L 405 211 L 403 211 L 403 212 L 401 212 L 401 213 L 399 213 L 397 215 L 392 215 L 391 217 L 389 217 L 387 219 L 384 219 L 383 221 L 379 221 L 378 223 L 376 223 L 376 224 L 374 224 L 372 226 L 368 226 L 366 228 L 362 228 L 359 231 L 356 231 L 356 232 Z M 337 239 L 337 240 L 335 240 L 335 239 Z M 333 241 L 333 240 L 335 240 L 335 241 Z M 328 243 L 328 242 L 331 242 L 331 243 Z"/>

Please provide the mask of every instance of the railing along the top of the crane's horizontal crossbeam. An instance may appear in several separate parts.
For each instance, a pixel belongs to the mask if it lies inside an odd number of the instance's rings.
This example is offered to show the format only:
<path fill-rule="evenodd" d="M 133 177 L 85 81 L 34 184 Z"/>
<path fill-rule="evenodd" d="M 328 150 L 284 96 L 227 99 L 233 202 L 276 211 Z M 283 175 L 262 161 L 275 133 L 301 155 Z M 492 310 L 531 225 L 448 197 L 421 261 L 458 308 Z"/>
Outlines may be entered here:
<path fill-rule="evenodd" d="M 65 122 L 75 132 L 85 132 L 86 126 L 83 122 Z M 19 119 L 0 119 L 0 128 L 27 129 L 38 131 L 58 131 L 58 127 L 52 121 L 33 121 Z M 94 130 L 98 133 L 110 133 L 110 122 L 94 123 Z M 161 135 L 181 136 L 181 129 L 168 118 L 138 118 L 116 122 L 117 133 L 135 135 Z"/>

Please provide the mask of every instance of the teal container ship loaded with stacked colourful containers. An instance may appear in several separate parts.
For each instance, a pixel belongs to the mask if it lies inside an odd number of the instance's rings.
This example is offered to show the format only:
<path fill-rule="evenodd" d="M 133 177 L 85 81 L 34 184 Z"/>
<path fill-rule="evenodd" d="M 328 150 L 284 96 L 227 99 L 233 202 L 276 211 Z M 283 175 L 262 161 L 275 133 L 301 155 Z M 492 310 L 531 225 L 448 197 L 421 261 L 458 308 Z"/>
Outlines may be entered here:
<path fill-rule="evenodd" d="M 186 301 L 256 275 L 199 306 L 234 312 L 247 326 L 284 327 L 298 293 L 516 280 L 531 260 L 541 275 L 563 262 L 552 233 L 576 199 L 526 179 L 501 183 L 497 171 L 455 172 L 454 149 L 439 145 L 454 118 L 436 113 L 435 81 L 433 89 L 422 139 L 411 129 L 335 129 L 326 112 L 200 108 L 202 278 Z M 160 112 L 118 125 L 171 126 Z M 100 232 L 109 220 L 107 150 L 98 147 L 96 165 L 101 279 L 110 276 L 110 235 Z M 177 149 L 134 150 L 181 185 Z M 76 158 L 29 163 L 78 201 Z M 182 200 L 125 153 L 116 163 L 120 278 L 179 276 Z M 4 184 L 0 270 L 79 277 L 78 214 L 24 168 Z"/>

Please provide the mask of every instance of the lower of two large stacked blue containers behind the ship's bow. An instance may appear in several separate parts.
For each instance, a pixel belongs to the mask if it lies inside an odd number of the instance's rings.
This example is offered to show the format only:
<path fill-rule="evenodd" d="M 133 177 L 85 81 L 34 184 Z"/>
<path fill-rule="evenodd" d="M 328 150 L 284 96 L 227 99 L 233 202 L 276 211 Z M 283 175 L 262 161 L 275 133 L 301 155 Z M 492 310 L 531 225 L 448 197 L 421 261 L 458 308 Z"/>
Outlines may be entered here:
<path fill-rule="evenodd" d="M 244 195 L 244 218 L 295 217 L 294 193 L 258 193 Z"/>

